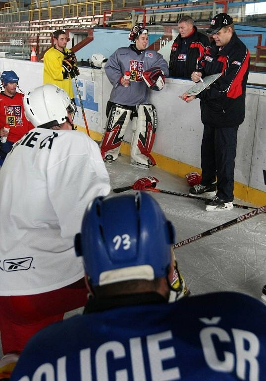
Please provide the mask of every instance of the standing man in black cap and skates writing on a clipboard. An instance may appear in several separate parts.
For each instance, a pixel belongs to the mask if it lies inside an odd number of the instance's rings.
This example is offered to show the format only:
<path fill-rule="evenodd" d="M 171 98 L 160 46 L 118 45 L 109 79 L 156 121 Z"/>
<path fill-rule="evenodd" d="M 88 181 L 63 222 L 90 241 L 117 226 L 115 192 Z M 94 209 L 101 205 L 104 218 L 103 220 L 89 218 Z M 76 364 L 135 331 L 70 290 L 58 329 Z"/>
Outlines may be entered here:
<path fill-rule="evenodd" d="M 222 75 L 198 95 L 184 93 L 180 96 L 186 102 L 200 98 L 204 124 L 202 182 L 190 188 L 190 193 L 214 196 L 205 202 L 207 211 L 229 210 L 233 208 L 234 199 L 237 130 L 245 119 L 250 54 L 234 31 L 233 19 L 226 13 L 214 16 L 206 33 L 212 35 L 213 43 L 206 49 L 191 79 L 199 82 L 215 73 Z"/>

